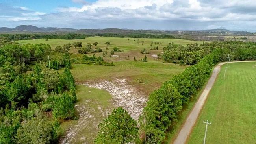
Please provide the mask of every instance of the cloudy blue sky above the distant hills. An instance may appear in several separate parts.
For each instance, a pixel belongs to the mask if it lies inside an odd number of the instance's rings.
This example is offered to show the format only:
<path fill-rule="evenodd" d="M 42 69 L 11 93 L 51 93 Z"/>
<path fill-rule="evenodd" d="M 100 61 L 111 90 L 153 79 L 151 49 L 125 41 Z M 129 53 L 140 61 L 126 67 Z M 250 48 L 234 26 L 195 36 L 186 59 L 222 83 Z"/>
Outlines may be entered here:
<path fill-rule="evenodd" d="M 256 31 L 255 0 L 0 0 L 0 27 Z"/>

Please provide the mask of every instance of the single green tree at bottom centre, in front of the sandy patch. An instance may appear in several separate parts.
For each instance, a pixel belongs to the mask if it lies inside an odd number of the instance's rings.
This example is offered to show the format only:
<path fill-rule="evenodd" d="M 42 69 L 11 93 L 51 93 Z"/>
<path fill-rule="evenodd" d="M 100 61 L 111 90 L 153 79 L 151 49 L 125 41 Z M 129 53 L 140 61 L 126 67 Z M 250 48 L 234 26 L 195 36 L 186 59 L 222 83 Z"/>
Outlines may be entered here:
<path fill-rule="evenodd" d="M 113 109 L 112 113 L 99 124 L 95 143 L 97 144 L 125 144 L 138 143 L 137 122 L 121 107 Z"/>

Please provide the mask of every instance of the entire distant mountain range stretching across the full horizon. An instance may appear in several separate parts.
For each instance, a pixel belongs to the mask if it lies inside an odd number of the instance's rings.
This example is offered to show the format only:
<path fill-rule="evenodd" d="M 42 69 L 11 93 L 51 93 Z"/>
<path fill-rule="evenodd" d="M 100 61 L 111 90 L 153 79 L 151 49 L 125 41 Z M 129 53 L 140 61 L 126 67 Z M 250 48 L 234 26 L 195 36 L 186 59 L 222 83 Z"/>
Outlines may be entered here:
<path fill-rule="evenodd" d="M 246 31 L 230 31 L 224 27 L 211 30 L 131 30 L 126 28 L 106 28 L 106 29 L 74 29 L 74 28 L 54 28 L 36 27 L 32 25 L 20 25 L 15 28 L 0 27 L 0 33 L 82 33 L 82 34 L 103 34 L 103 33 L 142 33 L 142 34 L 170 34 L 170 35 L 255 35 Z"/>

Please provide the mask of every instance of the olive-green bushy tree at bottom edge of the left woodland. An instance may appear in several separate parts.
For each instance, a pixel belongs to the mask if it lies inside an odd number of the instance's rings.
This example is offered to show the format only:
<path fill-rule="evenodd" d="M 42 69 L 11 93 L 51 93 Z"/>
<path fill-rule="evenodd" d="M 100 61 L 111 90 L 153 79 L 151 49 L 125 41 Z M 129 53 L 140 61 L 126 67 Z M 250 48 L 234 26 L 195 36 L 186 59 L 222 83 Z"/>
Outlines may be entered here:
<path fill-rule="evenodd" d="M 17 142 L 19 144 L 49 144 L 56 142 L 54 126 L 45 118 L 33 118 L 22 122 L 17 129 Z"/>

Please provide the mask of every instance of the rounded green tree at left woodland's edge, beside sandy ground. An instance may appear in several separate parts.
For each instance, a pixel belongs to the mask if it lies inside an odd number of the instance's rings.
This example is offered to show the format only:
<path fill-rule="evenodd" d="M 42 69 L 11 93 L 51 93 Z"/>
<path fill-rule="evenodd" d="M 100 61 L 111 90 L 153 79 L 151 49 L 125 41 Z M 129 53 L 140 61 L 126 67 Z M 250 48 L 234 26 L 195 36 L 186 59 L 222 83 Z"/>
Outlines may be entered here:
<path fill-rule="evenodd" d="M 74 117 L 74 101 L 67 93 L 62 94 L 54 101 L 52 115 L 58 119 L 70 119 Z"/>

